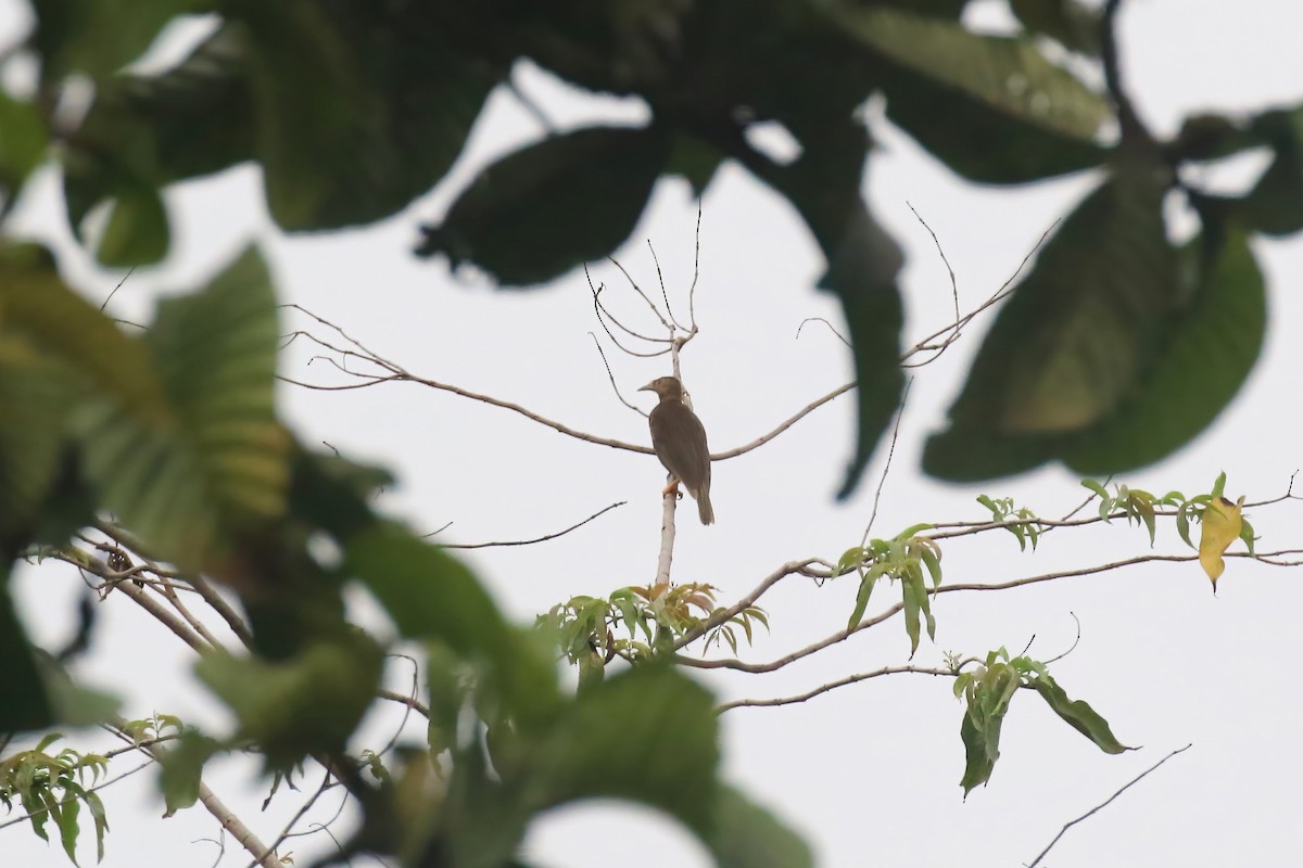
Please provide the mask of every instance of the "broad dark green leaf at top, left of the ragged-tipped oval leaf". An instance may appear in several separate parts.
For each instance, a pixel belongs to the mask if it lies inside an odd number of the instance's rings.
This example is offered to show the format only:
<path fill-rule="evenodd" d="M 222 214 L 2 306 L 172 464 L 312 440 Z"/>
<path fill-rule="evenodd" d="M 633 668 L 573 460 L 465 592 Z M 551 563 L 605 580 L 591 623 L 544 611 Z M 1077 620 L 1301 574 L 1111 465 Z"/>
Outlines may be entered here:
<path fill-rule="evenodd" d="M 427 4 L 241 3 L 267 204 L 289 230 L 388 217 L 461 152 L 506 68 Z"/>

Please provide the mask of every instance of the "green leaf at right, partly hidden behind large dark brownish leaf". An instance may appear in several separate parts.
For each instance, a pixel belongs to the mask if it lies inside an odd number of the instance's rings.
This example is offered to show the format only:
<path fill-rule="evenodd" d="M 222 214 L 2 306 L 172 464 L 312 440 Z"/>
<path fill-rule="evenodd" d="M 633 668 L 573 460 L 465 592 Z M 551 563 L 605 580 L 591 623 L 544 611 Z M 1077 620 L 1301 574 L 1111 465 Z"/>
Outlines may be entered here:
<path fill-rule="evenodd" d="M 1267 288 L 1244 232 L 1196 242 L 1199 280 L 1170 318 L 1161 355 L 1117 414 L 1065 459 L 1080 472 L 1148 465 L 1194 440 L 1230 403 L 1267 333 Z"/>

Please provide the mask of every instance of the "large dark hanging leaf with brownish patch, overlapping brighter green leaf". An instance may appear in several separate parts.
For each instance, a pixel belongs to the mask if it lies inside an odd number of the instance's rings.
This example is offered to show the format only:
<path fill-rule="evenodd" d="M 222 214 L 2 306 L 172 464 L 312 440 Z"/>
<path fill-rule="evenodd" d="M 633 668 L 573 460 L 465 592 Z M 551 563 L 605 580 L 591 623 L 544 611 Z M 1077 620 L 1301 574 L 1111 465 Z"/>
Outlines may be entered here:
<path fill-rule="evenodd" d="M 1167 181 L 1148 163 L 1119 167 L 1067 217 L 997 316 L 951 428 L 929 440 L 928 472 L 986 479 L 1035 466 L 1151 373 L 1181 301 Z"/>

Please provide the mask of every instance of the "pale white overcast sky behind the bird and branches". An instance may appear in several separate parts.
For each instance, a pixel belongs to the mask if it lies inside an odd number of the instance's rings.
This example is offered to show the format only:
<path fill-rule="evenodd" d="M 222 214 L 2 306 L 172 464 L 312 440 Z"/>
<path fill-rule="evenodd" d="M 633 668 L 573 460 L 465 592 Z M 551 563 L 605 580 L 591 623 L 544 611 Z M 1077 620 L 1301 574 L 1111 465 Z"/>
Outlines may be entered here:
<path fill-rule="evenodd" d="M 998 27 L 1002 4 L 972 4 L 975 20 Z M 0 44 L 23 26 L 25 5 L 0 0 Z M 1126 79 L 1141 116 L 1161 134 L 1191 111 L 1256 111 L 1303 99 L 1298 34 L 1303 9 L 1280 0 L 1131 0 L 1122 16 Z M 593 99 L 529 66 L 517 70 L 524 91 L 558 126 L 602 118 L 636 122 L 645 108 Z M 509 95 L 494 95 L 456 172 L 404 213 L 366 230 L 287 238 L 262 203 L 258 172 L 249 167 L 182 185 L 168 195 L 172 255 L 139 271 L 109 305 L 117 316 L 147 320 L 159 294 L 193 288 L 249 241 L 268 256 L 283 301 L 332 319 L 382 355 L 430 379 L 485 392 L 575 428 L 646 442 L 645 420 L 622 407 L 589 331 L 592 318 L 581 272 L 552 286 L 498 293 L 485 281 L 450 276 L 442 260 L 410 255 L 416 225 L 437 217 L 485 165 L 541 134 Z M 993 293 L 1040 234 L 1093 182 L 1075 176 L 1027 189 L 964 183 L 886 124 L 868 178 L 878 219 L 907 249 L 903 273 L 907 340 L 951 316 L 946 271 L 907 202 L 928 220 L 958 275 L 963 307 Z M 1265 160 L 1239 161 L 1218 176 L 1243 186 Z M 57 203 L 59 185 L 44 172 L 31 185 L 17 225 L 55 245 L 66 277 L 99 301 L 121 278 L 96 271 L 73 247 Z M 851 379 L 846 347 L 810 316 L 840 319 L 834 299 L 813 290 L 821 262 L 804 226 L 782 199 L 734 165 L 722 168 L 704 200 L 701 282 L 696 308 L 701 334 L 683 358 L 697 413 L 719 452 L 769 431 L 816 397 Z M 1174 215 L 1179 224 L 1179 216 Z M 687 185 L 662 181 L 629 243 L 618 252 L 645 285 L 655 280 L 646 241 L 655 245 L 671 297 L 683 303 L 692 276 L 696 203 Z M 1257 242 L 1269 278 L 1270 328 L 1263 359 L 1230 409 L 1179 455 L 1122 481 L 1164 493 L 1207 491 L 1229 472 L 1227 493 L 1264 500 L 1283 493 L 1303 465 L 1296 448 L 1298 371 L 1303 321 L 1298 276 L 1303 243 Z M 619 273 L 594 268 L 614 298 Z M 637 311 L 629 302 L 622 310 Z M 938 484 L 919 472 L 925 435 L 937 429 L 990 319 L 916 379 L 894 466 L 886 480 L 876 535 L 894 535 L 924 521 L 980 519 L 979 493 L 1012 496 L 1057 517 L 1084 496 L 1075 476 L 1050 467 L 977 487 Z M 305 325 L 288 319 L 285 329 Z M 607 354 L 625 394 L 668 372 L 653 362 Z M 306 353 L 285 354 L 283 372 L 331 381 Z M 466 560 L 517 621 L 576 593 L 607 595 L 652 579 L 659 537 L 658 491 L 663 472 L 648 457 L 564 437 L 511 413 L 417 385 L 348 393 L 284 387 L 281 409 L 309 442 L 328 441 L 357 458 L 397 472 L 400 487 L 384 506 L 414 527 L 448 522 L 443 539 L 472 543 L 532 537 L 560 530 L 616 501 L 597 522 L 542 545 L 486 549 Z M 650 409 L 650 396 L 640 396 Z M 833 501 L 851 454 L 850 398 L 808 416 L 765 448 L 718 463 L 713 500 L 718 524 L 704 528 L 692 510 L 680 521 L 676 580 L 710 582 L 724 601 L 751 590 L 790 560 L 835 560 L 859 541 L 872 509 L 885 450 L 859 495 Z M 1303 543 L 1298 505 L 1252 514 L 1264 548 Z M 993 582 L 1140 554 L 1148 540 L 1124 524 L 1052 534 L 1041 550 L 1020 554 L 1012 536 L 986 535 L 945 548 L 946 582 Z M 1175 530 L 1160 526 L 1158 550 L 1183 553 Z M 1121 740 L 1143 750 L 1106 756 L 1062 724 L 1033 695 L 1016 696 L 1005 722 L 1002 757 L 990 783 L 967 802 L 960 704 L 950 679 L 898 675 L 846 687 L 801 705 L 736 709 L 723 716 L 726 776 L 770 806 L 804 834 L 817 863 L 945 867 L 1020 865 L 1049 843 L 1063 822 L 1098 804 L 1169 751 L 1194 743 L 1118 802 L 1065 835 L 1046 863 L 1087 865 L 1289 864 L 1296 858 L 1298 781 L 1303 757 L 1293 690 L 1295 613 L 1303 608 L 1303 574 L 1230 561 L 1214 597 L 1195 563 L 1148 565 L 1001 593 L 956 593 L 936 603 L 937 642 L 920 645 L 915 662 L 938 665 L 943 651 L 984 655 L 1009 645 L 1015 653 L 1035 635 L 1031 653 L 1048 658 L 1076 649 L 1053 666 L 1074 698 L 1085 699 Z M 22 570 L 17 593 L 26 623 L 51 647 L 70 630 L 77 576 L 56 566 Z M 869 612 L 893 601 L 881 587 Z M 844 626 L 853 579 L 814 587 L 788 578 L 762 601 L 773 635 L 761 634 L 748 660 L 771 660 Z M 382 622 L 356 595 L 357 617 Z M 898 596 L 895 597 L 898 599 Z M 705 683 L 721 700 L 801 692 L 853 671 L 906 662 L 908 640 L 899 618 L 825 653 L 766 675 L 711 673 Z M 100 608 L 91 653 L 79 664 L 89 682 L 112 687 L 128 717 L 152 711 L 180 714 L 216 731 L 227 718 L 193 677 L 190 652 L 125 597 Z M 395 688 L 410 678 L 403 664 Z M 357 747 L 380 747 L 397 716 L 383 709 Z M 423 727 L 413 725 L 416 740 Z M 107 747 L 102 733 L 69 734 L 69 744 Z M 132 768 L 122 757 L 115 770 Z M 297 808 L 293 793 L 261 812 L 262 786 L 250 786 L 251 764 L 225 760 L 208 778 L 259 835 L 270 841 Z M 106 868 L 248 864 L 235 841 L 219 860 L 219 830 L 202 807 L 159 820 L 152 770 L 102 793 L 111 832 Z M 313 772 L 304 787 L 314 787 Z M 308 822 L 326 822 L 339 795 L 327 796 Z M 351 813 L 332 826 L 343 839 Z M 3 817 L 0 817 L 3 821 Z M 0 864 L 68 864 L 26 826 L 0 830 Z M 205 841 L 207 839 L 207 841 Z M 674 822 L 649 811 L 585 804 L 537 822 L 528 839 L 534 864 L 552 868 L 705 865 L 708 858 Z M 331 847 L 328 837 L 298 838 L 296 864 Z M 284 851 L 283 851 L 284 852 Z M 82 864 L 94 861 L 87 837 Z M 365 859 L 354 864 L 370 864 Z"/>

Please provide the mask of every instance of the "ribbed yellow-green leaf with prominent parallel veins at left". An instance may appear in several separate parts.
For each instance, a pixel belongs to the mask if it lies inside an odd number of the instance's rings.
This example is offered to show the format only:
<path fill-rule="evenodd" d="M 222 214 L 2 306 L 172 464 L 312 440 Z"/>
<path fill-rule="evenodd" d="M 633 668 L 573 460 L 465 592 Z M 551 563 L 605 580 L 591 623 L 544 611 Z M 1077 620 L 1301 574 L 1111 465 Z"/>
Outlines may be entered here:
<path fill-rule="evenodd" d="M 205 563 L 223 531 L 284 511 L 288 437 L 274 407 L 276 305 L 253 250 L 199 293 L 159 305 L 146 344 L 162 424 L 104 400 L 77 418 L 106 508 L 172 560 Z"/>

